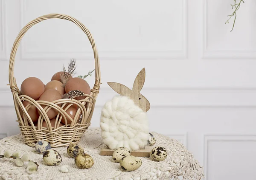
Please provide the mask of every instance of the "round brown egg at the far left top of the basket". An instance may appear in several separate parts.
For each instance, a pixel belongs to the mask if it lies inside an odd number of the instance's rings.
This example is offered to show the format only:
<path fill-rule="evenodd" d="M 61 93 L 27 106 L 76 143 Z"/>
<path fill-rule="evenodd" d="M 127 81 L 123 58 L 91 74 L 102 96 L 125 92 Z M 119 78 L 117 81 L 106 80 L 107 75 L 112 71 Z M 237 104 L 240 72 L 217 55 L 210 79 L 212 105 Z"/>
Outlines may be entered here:
<path fill-rule="evenodd" d="M 37 100 L 44 93 L 44 83 L 38 78 L 29 77 L 22 82 L 20 91 L 23 95 Z"/>

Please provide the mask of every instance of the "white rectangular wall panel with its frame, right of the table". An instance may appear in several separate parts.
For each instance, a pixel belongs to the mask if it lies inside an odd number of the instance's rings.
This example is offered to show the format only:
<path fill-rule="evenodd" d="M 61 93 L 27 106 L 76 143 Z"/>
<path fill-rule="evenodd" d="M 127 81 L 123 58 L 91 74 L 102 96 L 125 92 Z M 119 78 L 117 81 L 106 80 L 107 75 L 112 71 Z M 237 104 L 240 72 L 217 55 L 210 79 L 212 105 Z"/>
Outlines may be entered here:
<path fill-rule="evenodd" d="M 205 135 L 204 171 L 207 180 L 253 179 L 255 168 L 250 163 L 248 166 L 248 162 L 256 160 L 255 149 L 256 135 Z M 217 166 L 218 163 L 221 166 Z M 236 171 L 234 166 L 237 166 Z"/>

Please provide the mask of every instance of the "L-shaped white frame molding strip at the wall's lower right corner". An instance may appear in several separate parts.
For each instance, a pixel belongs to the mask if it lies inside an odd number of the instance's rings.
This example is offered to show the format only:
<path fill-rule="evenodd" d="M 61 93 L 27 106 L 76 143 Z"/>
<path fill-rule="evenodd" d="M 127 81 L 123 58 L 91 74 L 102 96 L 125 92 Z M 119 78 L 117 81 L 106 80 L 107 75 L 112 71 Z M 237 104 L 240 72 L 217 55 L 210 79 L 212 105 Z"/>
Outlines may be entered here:
<path fill-rule="evenodd" d="M 204 135 L 204 174 L 207 176 L 208 145 L 211 141 L 256 141 L 256 134 L 213 134 Z"/>

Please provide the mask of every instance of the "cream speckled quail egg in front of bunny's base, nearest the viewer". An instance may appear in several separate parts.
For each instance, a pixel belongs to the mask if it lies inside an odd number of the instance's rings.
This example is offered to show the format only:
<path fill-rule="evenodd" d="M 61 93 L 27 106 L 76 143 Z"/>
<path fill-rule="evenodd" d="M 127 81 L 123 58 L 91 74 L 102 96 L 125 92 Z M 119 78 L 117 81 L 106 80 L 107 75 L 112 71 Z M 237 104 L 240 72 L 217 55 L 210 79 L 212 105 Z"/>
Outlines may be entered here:
<path fill-rule="evenodd" d="M 120 166 L 125 171 L 134 171 L 138 169 L 141 164 L 141 159 L 132 155 L 125 156 L 120 160 Z"/>

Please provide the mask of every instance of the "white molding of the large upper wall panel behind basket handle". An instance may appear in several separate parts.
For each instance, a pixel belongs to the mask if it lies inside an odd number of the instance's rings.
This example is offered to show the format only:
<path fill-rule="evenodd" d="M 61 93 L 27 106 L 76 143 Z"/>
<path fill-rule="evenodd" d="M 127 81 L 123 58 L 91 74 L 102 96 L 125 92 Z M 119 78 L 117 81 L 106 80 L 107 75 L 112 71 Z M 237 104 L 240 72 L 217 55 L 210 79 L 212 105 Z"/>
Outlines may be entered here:
<path fill-rule="evenodd" d="M 28 23 L 24 20 L 27 0 L 20 1 L 20 28 Z M 118 60 L 136 60 L 136 59 L 186 59 L 187 58 L 187 0 L 182 0 L 182 46 L 179 51 L 100 51 L 100 59 L 118 59 Z M 93 53 L 91 51 L 83 52 L 28 52 L 23 40 L 21 46 L 21 60 L 63 60 L 67 57 L 76 57 L 76 59 L 91 60 Z"/>

